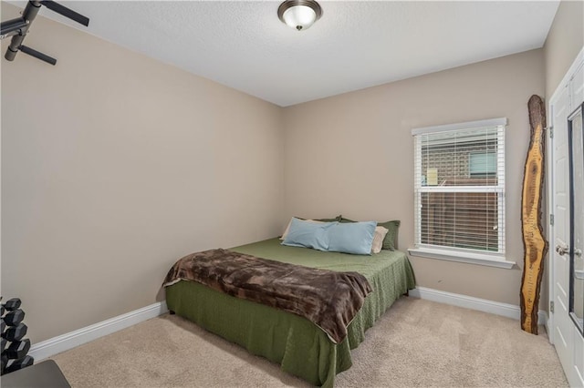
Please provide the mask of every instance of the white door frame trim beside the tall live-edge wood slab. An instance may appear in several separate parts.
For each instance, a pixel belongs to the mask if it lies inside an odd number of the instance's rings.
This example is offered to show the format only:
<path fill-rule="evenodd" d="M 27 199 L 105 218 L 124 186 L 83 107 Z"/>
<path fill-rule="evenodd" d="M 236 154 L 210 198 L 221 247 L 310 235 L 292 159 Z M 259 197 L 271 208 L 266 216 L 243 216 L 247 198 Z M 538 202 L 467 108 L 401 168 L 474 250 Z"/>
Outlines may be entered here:
<path fill-rule="evenodd" d="M 568 72 L 564 75 L 564 77 L 562 78 L 561 82 L 558 84 L 558 87 L 556 88 L 556 90 L 554 91 L 554 93 L 551 95 L 551 97 L 549 98 L 549 101 L 547 101 L 547 126 L 549 127 L 552 123 L 552 118 L 553 118 L 553 113 L 552 112 L 552 105 L 551 102 L 554 101 L 558 95 L 561 93 L 561 91 L 568 86 L 568 83 L 570 82 L 571 77 L 574 76 L 574 74 L 576 73 L 576 71 L 579 69 L 580 66 L 583 66 L 584 64 L 584 47 L 581 48 L 578 56 L 576 56 L 576 58 L 574 59 L 574 62 L 572 63 L 572 65 L 569 67 Z M 572 105 L 574 107 L 578 106 L 582 101 L 576 101 L 576 102 L 572 102 Z M 553 130 L 553 128 L 552 128 Z M 547 136 L 547 155 L 546 155 L 546 168 L 547 168 L 547 174 L 546 174 L 546 179 L 547 179 L 547 211 L 546 211 L 546 215 L 547 215 L 547 240 L 549 241 L 549 250 L 547 253 L 547 271 L 548 271 L 548 293 L 549 293 L 549 301 L 555 301 L 556 300 L 556 274 L 554 273 L 554 265 L 553 265 L 553 260 L 554 260 L 554 244 L 556 241 L 556 236 L 554 233 L 554 226 L 551 224 L 551 222 L 549 222 L 550 220 L 550 216 L 554 209 L 554 187 L 553 187 L 553 182 L 554 182 L 554 176 L 553 176 L 553 163 L 554 163 L 554 149 L 553 149 L 553 144 L 552 144 L 552 139 Z M 549 308 L 549 306 L 548 306 Z M 551 312 L 548 314 L 548 319 L 547 319 L 547 336 L 549 338 L 549 342 L 550 343 L 555 343 L 556 338 L 556 326 L 555 326 L 555 321 L 554 321 L 554 314 Z M 568 371 L 566 371 L 568 374 Z M 568 377 L 568 376 L 567 376 Z M 568 378 L 569 380 L 569 378 Z"/>

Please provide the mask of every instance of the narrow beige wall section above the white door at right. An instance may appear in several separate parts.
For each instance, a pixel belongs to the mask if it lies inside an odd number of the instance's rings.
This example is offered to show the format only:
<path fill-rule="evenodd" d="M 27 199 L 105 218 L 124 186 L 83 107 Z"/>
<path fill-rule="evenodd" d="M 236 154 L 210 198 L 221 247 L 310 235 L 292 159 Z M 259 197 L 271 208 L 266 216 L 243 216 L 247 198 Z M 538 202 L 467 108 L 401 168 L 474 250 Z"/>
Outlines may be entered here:
<path fill-rule="evenodd" d="M 584 1 L 563 0 L 558 6 L 544 46 L 547 100 L 558 88 L 582 46 L 584 46 Z"/>

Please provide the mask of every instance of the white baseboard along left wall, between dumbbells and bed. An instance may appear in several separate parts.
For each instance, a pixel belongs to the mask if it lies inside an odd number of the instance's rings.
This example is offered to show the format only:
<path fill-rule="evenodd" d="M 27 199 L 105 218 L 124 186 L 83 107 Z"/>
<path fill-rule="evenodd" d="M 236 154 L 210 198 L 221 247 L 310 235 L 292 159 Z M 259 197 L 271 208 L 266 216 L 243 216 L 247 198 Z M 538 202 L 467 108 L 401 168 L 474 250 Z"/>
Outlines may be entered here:
<path fill-rule="evenodd" d="M 83 343 L 97 340 L 104 335 L 150 320 L 167 311 L 166 301 L 159 301 L 150 306 L 113 317 L 107 321 L 92 324 L 75 332 L 68 332 L 50 338 L 47 341 L 38 342 L 30 347 L 28 354 L 35 358 L 35 362 L 38 362 L 57 353 L 73 349 Z"/>

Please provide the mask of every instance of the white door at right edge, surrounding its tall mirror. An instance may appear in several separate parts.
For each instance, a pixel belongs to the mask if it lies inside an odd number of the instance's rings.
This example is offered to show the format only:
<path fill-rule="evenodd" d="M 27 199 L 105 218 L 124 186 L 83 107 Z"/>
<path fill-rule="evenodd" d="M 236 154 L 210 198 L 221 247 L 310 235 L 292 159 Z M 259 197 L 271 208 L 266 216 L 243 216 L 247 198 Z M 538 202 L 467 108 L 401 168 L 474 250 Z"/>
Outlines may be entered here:
<path fill-rule="evenodd" d="M 582 66 L 579 71 L 582 72 Z M 570 77 L 570 82 L 575 77 Z M 579 79 L 576 77 L 576 79 Z M 581 103 L 578 87 L 568 82 L 558 89 L 550 100 L 548 125 L 553 128 L 553 137 L 549 138 L 551 177 L 549 189 L 549 209 L 553 215 L 550 226 L 550 301 L 553 301 L 553 311 L 550 309 L 549 339 L 554 343 L 558 358 L 568 378 L 570 386 L 584 386 L 582 355 L 584 340 L 576 322 L 570 317 L 570 171 L 568 116 L 572 107 Z M 580 194 L 581 195 L 581 194 Z"/>

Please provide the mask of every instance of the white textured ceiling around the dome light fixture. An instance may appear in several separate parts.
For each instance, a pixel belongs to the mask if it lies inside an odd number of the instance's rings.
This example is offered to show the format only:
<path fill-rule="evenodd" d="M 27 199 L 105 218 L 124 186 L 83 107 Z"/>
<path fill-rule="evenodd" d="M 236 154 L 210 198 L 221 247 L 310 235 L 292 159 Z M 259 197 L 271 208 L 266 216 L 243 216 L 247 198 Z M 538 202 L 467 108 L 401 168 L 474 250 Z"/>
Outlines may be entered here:
<path fill-rule="evenodd" d="M 558 9 L 558 1 L 322 1 L 322 18 L 298 32 L 279 21 L 277 1 L 61 4 L 89 27 L 45 7 L 41 15 L 281 107 L 541 47 Z"/>

